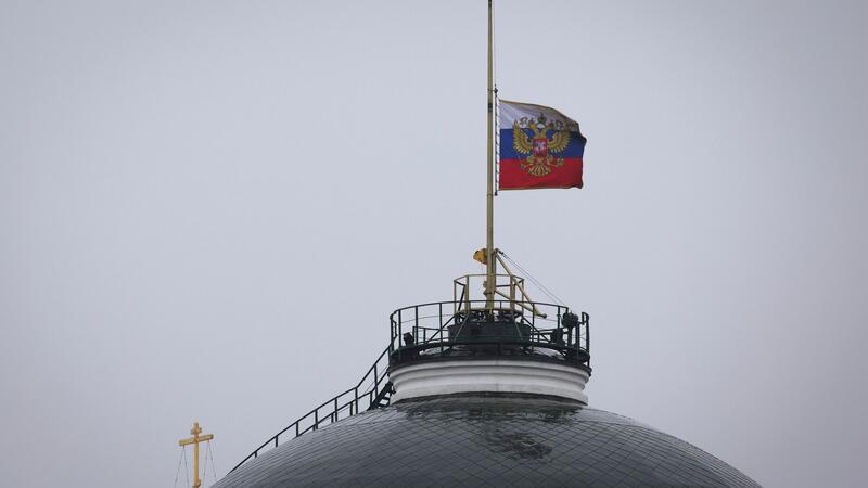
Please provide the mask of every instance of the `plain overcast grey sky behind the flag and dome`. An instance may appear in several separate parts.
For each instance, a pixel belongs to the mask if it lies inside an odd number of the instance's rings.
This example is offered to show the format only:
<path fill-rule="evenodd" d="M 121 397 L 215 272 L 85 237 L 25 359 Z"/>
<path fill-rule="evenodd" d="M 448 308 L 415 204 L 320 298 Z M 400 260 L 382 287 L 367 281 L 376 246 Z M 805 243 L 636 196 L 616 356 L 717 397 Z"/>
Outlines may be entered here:
<path fill-rule="evenodd" d="M 860 485 L 865 3 L 497 21 L 589 139 L 496 239 L 591 314 L 591 404 Z M 484 157 L 483 1 L 0 3 L 0 484 L 169 486 L 193 420 L 222 476 L 478 271 Z"/>

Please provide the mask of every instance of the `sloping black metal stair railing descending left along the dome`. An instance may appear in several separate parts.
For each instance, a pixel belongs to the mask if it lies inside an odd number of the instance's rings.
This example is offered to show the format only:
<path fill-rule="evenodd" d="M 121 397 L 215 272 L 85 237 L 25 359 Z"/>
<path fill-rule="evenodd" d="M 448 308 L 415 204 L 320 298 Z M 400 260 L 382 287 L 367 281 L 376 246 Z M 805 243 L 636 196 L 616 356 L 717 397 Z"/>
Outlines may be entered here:
<path fill-rule="evenodd" d="M 281 439 L 293 439 L 310 431 L 337 422 L 341 419 L 355 415 L 360 411 L 383 407 L 383 402 L 388 401 L 388 396 L 392 393 L 392 383 L 388 382 L 386 374 L 388 350 L 388 348 L 383 350 L 356 386 L 326 400 L 319 407 L 288 425 L 283 431 L 275 434 L 238 463 L 230 473 L 238 470 L 245 462 L 258 458 L 263 451 L 278 447 Z"/>

